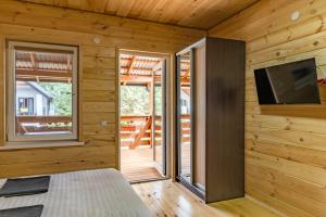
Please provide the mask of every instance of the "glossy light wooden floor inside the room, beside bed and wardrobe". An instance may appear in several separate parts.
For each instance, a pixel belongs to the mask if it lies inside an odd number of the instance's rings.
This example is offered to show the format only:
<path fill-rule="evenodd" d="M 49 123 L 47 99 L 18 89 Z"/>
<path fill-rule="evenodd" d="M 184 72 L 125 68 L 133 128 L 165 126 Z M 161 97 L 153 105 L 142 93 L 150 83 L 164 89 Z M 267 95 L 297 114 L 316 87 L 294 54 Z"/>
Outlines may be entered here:
<path fill-rule="evenodd" d="M 206 205 L 177 182 L 171 180 L 133 184 L 159 217 L 279 217 L 249 199 L 236 199 Z"/>

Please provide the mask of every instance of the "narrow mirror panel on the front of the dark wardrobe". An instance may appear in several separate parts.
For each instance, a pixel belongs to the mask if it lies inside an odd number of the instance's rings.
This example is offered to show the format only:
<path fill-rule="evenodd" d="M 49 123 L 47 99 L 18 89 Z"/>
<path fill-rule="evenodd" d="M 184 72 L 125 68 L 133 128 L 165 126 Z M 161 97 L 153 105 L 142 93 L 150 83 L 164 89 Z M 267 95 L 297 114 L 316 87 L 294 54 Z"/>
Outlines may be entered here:
<path fill-rule="evenodd" d="M 191 71 L 190 52 L 178 59 L 178 131 L 179 173 L 190 181 L 191 177 Z"/>

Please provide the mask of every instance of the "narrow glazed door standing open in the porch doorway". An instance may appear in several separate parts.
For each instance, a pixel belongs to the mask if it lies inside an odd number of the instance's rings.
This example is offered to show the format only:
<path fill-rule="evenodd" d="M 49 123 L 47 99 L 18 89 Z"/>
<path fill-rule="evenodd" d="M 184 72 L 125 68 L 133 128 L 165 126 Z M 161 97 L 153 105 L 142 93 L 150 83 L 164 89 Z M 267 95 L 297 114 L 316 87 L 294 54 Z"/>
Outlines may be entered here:
<path fill-rule="evenodd" d="M 153 71 L 153 159 L 161 175 L 166 176 L 166 145 L 165 145 L 165 73 L 166 61 L 162 60 Z"/>

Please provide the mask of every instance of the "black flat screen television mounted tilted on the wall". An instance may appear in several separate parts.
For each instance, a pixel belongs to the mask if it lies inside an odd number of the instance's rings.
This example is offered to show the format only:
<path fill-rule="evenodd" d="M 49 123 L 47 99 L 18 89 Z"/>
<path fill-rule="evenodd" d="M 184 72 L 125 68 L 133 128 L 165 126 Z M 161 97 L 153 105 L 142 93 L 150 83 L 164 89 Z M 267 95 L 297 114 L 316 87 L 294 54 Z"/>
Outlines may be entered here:
<path fill-rule="evenodd" d="M 321 104 L 315 59 L 254 71 L 260 104 Z"/>

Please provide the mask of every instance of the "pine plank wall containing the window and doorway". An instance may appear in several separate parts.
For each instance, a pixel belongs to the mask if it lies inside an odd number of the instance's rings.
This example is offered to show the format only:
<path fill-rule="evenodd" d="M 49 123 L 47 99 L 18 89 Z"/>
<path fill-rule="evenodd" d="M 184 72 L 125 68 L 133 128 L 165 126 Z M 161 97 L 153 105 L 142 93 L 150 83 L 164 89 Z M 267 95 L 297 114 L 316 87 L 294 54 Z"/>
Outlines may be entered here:
<path fill-rule="evenodd" d="M 0 177 L 118 167 L 117 49 L 171 53 L 205 31 L 1 0 L 0 145 L 4 137 L 5 40 L 75 44 L 80 48 L 79 127 L 83 146 L 1 150 Z M 95 43 L 95 38 L 100 39 Z M 100 122 L 109 125 L 101 127 Z"/>

